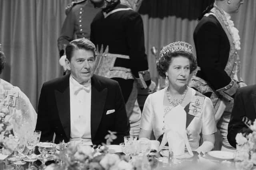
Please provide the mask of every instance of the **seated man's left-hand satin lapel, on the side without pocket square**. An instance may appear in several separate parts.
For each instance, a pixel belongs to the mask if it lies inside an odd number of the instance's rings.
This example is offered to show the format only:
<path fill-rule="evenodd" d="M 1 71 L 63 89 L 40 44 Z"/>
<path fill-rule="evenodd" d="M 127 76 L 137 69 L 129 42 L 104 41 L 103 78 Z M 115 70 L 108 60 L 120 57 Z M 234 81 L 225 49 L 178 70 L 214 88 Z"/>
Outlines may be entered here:
<path fill-rule="evenodd" d="M 66 133 L 67 138 L 70 138 L 70 90 L 69 90 L 69 76 L 63 82 L 60 89 L 55 90 L 56 104 L 60 122 Z"/>

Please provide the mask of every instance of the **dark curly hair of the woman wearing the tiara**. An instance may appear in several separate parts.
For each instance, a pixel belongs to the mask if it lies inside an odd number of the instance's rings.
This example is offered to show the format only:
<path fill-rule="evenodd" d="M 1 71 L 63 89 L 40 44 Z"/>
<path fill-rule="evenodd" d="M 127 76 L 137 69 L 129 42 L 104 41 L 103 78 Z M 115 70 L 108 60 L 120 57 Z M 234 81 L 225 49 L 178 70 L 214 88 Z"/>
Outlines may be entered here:
<path fill-rule="evenodd" d="M 166 55 L 164 55 L 163 57 L 160 57 L 158 59 L 157 65 L 156 65 L 156 69 L 159 73 L 160 76 L 162 77 L 166 77 L 166 72 L 170 66 L 170 64 L 172 63 L 172 59 L 174 57 L 186 57 L 189 59 L 190 61 L 190 73 L 194 70 L 196 70 L 197 67 L 197 63 L 196 63 L 196 57 L 194 57 L 194 55 L 192 53 L 188 53 L 185 51 L 176 51 L 176 52 L 169 52 Z"/>

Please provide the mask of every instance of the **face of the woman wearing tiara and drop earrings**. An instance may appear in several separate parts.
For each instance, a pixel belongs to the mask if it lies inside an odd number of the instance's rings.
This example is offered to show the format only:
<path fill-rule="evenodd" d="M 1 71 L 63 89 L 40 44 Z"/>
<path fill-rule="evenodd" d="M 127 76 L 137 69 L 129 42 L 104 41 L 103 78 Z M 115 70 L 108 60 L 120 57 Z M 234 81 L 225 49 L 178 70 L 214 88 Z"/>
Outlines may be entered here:
<path fill-rule="evenodd" d="M 166 72 L 169 78 L 169 85 L 174 88 L 186 86 L 190 74 L 190 61 L 186 57 L 173 57 Z"/>

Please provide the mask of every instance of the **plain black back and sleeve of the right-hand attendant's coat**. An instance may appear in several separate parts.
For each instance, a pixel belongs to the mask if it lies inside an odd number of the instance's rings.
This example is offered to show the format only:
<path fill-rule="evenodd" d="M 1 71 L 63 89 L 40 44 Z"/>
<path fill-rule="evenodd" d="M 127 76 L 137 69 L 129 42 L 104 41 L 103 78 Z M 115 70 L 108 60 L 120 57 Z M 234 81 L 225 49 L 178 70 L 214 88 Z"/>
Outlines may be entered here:
<path fill-rule="evenodd" d="M 194 30 L 194 43 L 199 70 L 196 76 L 218 90 L 230 84 L 231 78 L 225 72 L 230 53 L 226 32 L 215 16 L 204 16 Z"/>

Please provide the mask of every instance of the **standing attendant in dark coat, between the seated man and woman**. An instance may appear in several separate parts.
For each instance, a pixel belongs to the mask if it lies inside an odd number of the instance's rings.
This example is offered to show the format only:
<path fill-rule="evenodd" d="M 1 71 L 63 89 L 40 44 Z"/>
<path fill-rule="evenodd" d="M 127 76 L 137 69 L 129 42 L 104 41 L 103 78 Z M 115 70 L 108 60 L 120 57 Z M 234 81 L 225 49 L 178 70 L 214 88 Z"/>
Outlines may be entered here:
<path fill-rule="evenodd" d="M 120 84 L 131 125 L 131 135 L 140 131 L 138 87 L 154 91 L 145 54 L 143 21 L 138 12 L 142 0 L 108 0 L 91 24 L 90 40 L 98 48 L 95 74 Z M 124 5 L 125 4 L 125 5 Z M 134 11 L 135 10 L 135 11 Z"/>

